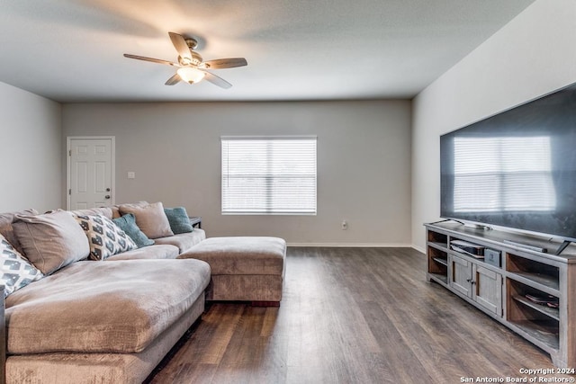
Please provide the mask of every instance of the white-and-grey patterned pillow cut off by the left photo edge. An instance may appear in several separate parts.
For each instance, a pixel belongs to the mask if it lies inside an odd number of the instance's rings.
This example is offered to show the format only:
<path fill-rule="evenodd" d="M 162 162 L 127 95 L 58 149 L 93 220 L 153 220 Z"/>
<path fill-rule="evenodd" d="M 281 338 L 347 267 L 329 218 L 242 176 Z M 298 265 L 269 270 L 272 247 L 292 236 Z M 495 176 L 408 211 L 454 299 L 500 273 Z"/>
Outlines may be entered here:
<path fill-rule="evenodd" d="M 42 277 L 42 272 L 0 235 L 0 284 L 4 285 L 4 298 Z"/>

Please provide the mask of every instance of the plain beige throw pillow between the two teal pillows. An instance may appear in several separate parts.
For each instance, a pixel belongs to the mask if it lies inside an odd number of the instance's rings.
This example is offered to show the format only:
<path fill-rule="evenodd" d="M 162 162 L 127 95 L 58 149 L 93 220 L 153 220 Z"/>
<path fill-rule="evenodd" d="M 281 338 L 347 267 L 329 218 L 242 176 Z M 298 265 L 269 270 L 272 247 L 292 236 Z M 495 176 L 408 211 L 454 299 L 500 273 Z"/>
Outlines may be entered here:
<path fill-rule="evenodd" d="M 174 232 L 170 229 L 170 223 L 168 222 L 168 218 L 166 218 L 166 213 L 164 213 L 162 202 L 155 202 L 144 206 L 123 204 L 119 208 L 122 216 L 126 213 L 133 214 L 136 218 L 136 224 L 149 238 L 174 235 Z"/>

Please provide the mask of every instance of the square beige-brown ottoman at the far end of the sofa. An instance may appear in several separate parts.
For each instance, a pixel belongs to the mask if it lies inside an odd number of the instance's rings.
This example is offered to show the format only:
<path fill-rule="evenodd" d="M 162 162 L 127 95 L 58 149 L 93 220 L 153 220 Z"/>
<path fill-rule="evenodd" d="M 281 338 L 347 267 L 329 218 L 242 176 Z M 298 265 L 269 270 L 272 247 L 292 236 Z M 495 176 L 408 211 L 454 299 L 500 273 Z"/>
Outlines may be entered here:
<path fill-rule="evenodd" d="M 210 264 L 207 300 L 280 306 L 286 242 L 279 237 L 209 237 L 178 258 Z"/>

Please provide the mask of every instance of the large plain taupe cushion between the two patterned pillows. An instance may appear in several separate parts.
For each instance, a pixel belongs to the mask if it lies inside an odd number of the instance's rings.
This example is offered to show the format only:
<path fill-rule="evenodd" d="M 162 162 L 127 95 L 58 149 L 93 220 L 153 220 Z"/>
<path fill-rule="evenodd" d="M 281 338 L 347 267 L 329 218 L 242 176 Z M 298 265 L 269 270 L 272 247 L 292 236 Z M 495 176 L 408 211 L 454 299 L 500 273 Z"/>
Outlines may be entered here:
<path fill-rule="evenodd" d="M 14 234 L 24 256 L 44 274 L 85 259 L 90 245 L 76 219 L 65 210 L 43 215 L 16 215 Z"/>

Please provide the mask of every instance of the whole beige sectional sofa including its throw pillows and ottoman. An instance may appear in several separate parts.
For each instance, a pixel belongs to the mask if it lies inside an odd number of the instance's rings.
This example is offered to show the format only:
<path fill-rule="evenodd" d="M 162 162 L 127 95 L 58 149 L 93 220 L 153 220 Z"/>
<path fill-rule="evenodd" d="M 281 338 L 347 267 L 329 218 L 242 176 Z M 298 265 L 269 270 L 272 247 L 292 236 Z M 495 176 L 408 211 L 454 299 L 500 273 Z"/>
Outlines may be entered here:
<path fill-rule="evenodd" d="M 279 305 L 285 253 L 278 237 L 206 239 L 161 202 L 0 214 L 0 381 L 142 382 L 206 299 Z"/>

